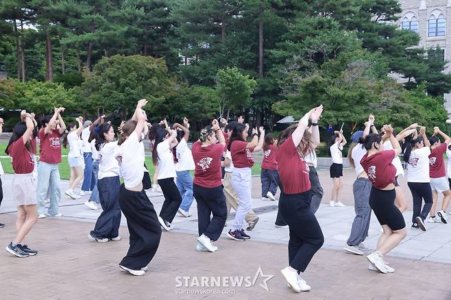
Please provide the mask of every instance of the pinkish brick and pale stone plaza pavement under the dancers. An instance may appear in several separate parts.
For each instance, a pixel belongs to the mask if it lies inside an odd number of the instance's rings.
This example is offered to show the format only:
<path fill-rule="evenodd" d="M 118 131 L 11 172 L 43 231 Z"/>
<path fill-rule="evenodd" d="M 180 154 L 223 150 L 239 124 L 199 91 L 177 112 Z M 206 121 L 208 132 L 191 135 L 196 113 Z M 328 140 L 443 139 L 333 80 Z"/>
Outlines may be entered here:
<path fill-rule="evenodd" d="M 325 189 L 324 203 L 317 218 L 325 236 L 324 247 L 315 255 L 304 273 L 312 286 L 300 295 L 287 288 L 280 269 L 287 266 L 288 229 L 275 228 L 277 201 L 262 201 L 259 178 L 254 178 L 254 208 L 260 217 L 252 240 L 235 242 L 225 235 L 216 242 L 219 251 L 195 251 L 197 216 L 176 216 L 172 232 L 163 232 L 156 257 L 143 277 L 119 271 L 118 264 L 128 247 L 128 232 L 123 218 L 117 242 L 97 243 L 88 240 L 99 211 L 88 210 L 82 203 L 64 197 L 62 218 L 40 219 L 27 238 L 38 249 L 35 257 L 15 258 L 0 249 L 1 299 L 451 299 L 451 225 L 426 223 L 427 232 L 410 229 L 411 211 L 404 213 L 408 236 L 387 261 L 396 271 L 381 274 L 368 271 L 364 256 L 343 251 L 348 238 L 354 208 L 352 207 L 352 171 L 345 170 L 345 208 L 330 208 L 330 179 L 327 171 L 319 171 Z M 0 245 L 5 247 L 14 236 L 15 208 L 10 199 L 12 175 L 2 176 L 5 199 L 0 221 Z M 401 183 L 411 201 L 405 182 Z M 62 181 L 62 190 L 67 182 Z M 148 192 L 157 212 L 162 195 Z M 380 227 L 372 217 L 369 238 L 365 244 L 374 249 Z M 224 232 L 226 232 L 224 229 Z M 223 232 L 223 233 L 224 233 Z M 256 277 L 258 268 L 263 276 Z M 271 279 L 265 277 L 274 275 Z M 188 285 L 184 286 L 184 278 Z M 179 277 L 179 278 L 177 278 Z M 196 279 L 193 279 L 196 277 Z M 198 287 L 202 277 L 247 277 L 254 286 L 233 287 L 229 282 L 220 287 Z M 256 278 L 255 278 L 256 277 Z M 269 291 L 262 286 L 265 284 Z M 222 280 L 224 280 L 222 278 Z M 180 286 L 182 283 L 182 286 Z M 261 285 L 261 286 L 260 286 Z M 181 293 L 191 292 L 191 294 Z M 220 292 L 223 294 L 212 294 Z"/>

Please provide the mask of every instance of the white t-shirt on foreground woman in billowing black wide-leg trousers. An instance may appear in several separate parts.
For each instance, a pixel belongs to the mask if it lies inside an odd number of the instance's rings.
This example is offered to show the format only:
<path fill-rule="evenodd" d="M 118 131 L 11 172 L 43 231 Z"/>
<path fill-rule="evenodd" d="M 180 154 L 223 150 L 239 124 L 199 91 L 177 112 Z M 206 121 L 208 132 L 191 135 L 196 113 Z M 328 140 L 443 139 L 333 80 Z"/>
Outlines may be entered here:
<path fill-rule="evenodd" d="M 143 182 L 145 153 L 144 143 L 139 141 L 140 137 L 136 132 L 132 132 L 127 140 L 116 148 L 114 157 L 119 162 L 125 188 L 134 188 Z"/>

